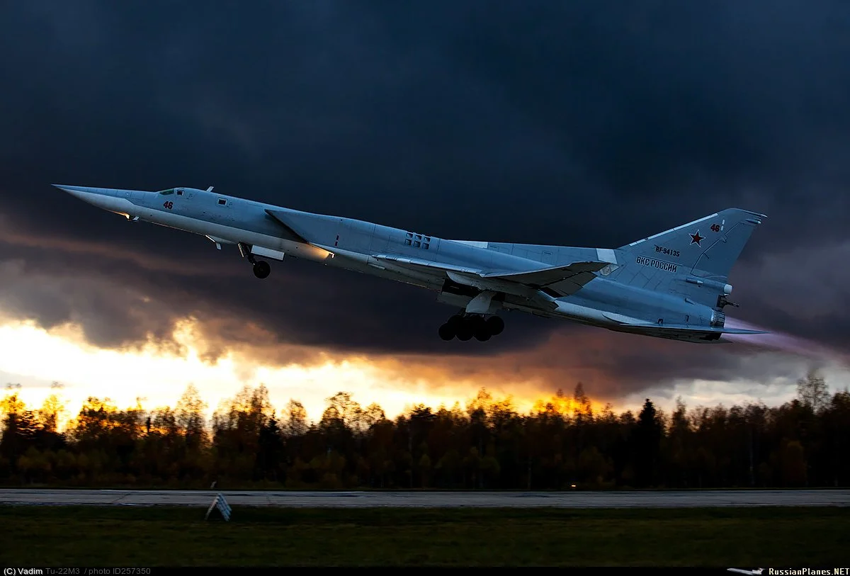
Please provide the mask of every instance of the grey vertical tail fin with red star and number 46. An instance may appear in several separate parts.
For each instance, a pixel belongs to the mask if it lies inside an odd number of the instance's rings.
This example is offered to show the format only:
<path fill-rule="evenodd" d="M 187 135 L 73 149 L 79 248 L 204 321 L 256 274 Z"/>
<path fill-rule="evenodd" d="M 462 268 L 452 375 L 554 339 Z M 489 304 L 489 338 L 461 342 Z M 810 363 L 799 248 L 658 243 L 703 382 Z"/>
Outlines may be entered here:
<path fill-rule="evenodd" d="M 621 246 L 620 250 L 661 266 L 672 266 L 680 273 L 725 281 L 752 230 L 764 218 L 757 212 L 728 208 Z"/>

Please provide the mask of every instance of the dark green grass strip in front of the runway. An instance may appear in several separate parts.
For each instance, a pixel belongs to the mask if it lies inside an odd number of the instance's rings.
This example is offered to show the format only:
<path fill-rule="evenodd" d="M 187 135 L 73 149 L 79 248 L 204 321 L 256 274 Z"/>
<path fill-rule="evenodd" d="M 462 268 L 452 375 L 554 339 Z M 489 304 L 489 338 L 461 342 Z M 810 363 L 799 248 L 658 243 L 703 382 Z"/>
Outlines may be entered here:
<path fill-rule="evenodd" d="M 13 566 L 846 566 L 846 508 L 0 506 Z"/>

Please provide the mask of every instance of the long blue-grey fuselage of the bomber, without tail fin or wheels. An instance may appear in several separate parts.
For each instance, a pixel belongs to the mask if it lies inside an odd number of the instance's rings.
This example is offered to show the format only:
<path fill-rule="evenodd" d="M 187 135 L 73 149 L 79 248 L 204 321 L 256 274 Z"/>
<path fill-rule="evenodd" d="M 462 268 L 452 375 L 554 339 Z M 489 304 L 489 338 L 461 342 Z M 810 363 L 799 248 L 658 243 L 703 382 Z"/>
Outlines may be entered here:
<path fill-rule="evenodd" d="M 475 296 L 486 291 L 495 296 L 479 302 L 476 312 L 482 316 L 494 315 L 502 308 L 518 309 L 544 317 L 563 317 L 610 330 L 638 333 L 643 333 L 643 325 L 710 328 L 717 326 L 718 317 L 723 316 L 716 307 L 683 297 L 687 293 L 684 288 L 683 294 L 654 289 L 652 279 L 669 281 L 664 274 L 671 274 L 671 270 L 677 272 L 676 264 L 647 265 L 647 282 L 616 280 L 621 272 L 617 268 L 635 260 L 619 249 L 446 240 L 346 217 L 300 212 L 218 194 L 212 189 L 175 188 L 150 192 L 57 187 L 131 221 L 141 220 L 201 234 L 215 242 L 219 249 L 223 244 L 237 245 L 252 263 L 256 262 L 255 257 L 303 258 L 436 291 L 439 301 L 467 309 L 467 312 Z M 507 280 L 476 280 L 478 277 L 472 274 L 480 270 L 520 273 L 576 262 L 610 263 L 610 267 L 595 274 L 580 290 L 568 296 L 547 294 L 545 288 Z M 433 263 L 433 268 L 428 263 Z M 265 275 L 259 274 L 255 267 L 258 277 L 268 275 L 268 264 L 263 263 L 263 267 Z M 709 284 L 712 281 L 701 280 Z M 694 283 L 695 280 L 691 282 Z M 723 293 L 731 290 L 723 281 L 716 283 Z M 719 325 L 723 325 L 722 318 Z M 706 342 L 717 340 L 720 334 L 706 337 L 706 334 L 688 332 L 651 336 Z"/>

